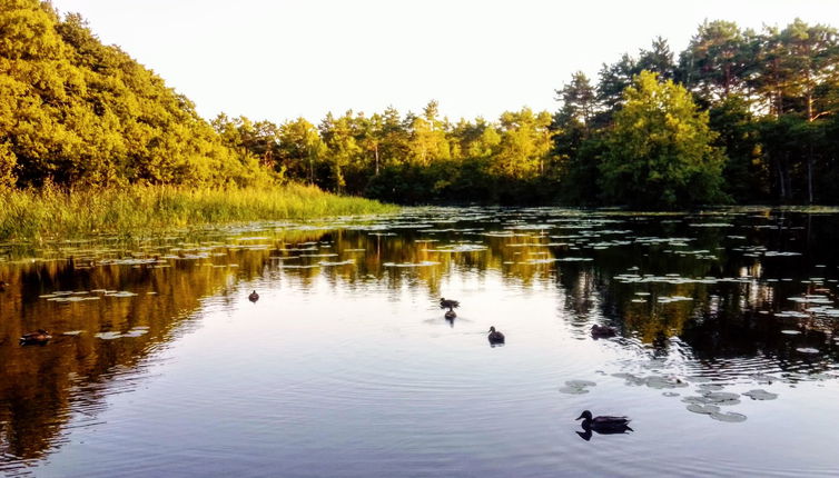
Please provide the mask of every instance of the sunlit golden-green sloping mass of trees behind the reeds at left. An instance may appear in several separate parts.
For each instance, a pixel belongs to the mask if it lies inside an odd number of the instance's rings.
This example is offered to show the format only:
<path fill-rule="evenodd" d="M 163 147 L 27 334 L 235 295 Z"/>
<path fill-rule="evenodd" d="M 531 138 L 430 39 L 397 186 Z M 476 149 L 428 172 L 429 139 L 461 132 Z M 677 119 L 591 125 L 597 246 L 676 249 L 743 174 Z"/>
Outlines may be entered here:
<path fill-rule="evenodd" d="M 2 0 L 0 186 L 253 183 L 268 178 L 228 148 L 189 100 L 78 14 Z"/>

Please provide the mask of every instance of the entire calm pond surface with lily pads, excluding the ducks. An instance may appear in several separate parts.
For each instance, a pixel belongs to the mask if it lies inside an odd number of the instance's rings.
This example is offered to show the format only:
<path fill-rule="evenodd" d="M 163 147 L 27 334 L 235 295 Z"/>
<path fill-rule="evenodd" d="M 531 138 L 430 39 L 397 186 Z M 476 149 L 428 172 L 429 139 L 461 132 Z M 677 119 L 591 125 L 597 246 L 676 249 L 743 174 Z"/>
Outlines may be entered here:
<path fill-rule="evenodd" d="M 0 472 L 837 476 L 838 239 L 830 210 L 428 209 L 6 245 Z"/>

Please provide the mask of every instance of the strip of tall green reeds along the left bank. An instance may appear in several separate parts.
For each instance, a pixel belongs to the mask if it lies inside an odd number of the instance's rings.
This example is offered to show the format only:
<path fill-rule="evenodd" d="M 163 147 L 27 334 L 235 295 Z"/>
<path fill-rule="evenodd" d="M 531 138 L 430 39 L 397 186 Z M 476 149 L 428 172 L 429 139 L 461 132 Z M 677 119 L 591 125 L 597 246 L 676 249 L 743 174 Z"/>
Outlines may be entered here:
<path fill-rule="evenodd" d="M 208 223 L 371 215 L 396 207 L 314 187 L 189 189 L 132 186 L 71 193 L 56 187 L 0 195 L 0 240 L 148 233 Z"/>

